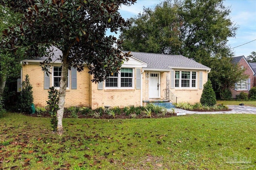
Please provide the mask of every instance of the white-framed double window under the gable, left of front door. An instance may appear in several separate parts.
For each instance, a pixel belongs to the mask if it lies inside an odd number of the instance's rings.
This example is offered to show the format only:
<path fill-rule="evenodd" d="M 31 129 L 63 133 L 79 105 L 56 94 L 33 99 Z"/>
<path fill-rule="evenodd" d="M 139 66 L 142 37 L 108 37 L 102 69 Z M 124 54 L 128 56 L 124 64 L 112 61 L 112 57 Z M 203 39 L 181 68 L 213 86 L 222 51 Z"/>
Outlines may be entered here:
<path fill-rule="evenodd" d="M 133 68 L 121 68 L 120 72 L 112 73 L 105 81 L 106 88 L 133 88 Z"/>

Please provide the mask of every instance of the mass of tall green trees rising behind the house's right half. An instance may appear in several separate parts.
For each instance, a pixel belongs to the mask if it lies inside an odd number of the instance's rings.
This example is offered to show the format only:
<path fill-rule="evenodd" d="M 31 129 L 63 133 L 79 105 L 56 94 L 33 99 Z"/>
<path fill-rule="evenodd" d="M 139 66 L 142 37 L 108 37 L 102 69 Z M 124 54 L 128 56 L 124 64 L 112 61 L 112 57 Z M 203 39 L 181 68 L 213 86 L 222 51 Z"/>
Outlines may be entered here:
<path fill-rule="evenodd" d="M 235 37 L 238 27 L 230 21 L 230 8 L 223 1 L 166 0 L 145 8 L 121 32 L 123 49 L 193 58 L 212 68 L 209 77 L 222 98 L 244 77 L 230 62 L 228 37 Z"/>

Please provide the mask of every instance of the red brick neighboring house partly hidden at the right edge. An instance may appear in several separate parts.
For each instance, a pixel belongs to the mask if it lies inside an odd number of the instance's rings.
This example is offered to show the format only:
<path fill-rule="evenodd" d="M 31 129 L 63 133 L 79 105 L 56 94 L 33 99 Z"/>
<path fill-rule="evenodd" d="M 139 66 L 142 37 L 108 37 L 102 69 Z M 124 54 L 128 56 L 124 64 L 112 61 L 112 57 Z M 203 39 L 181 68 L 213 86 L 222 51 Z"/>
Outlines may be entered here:
<path fill-rule="evenodd" d="M 241 80 L 241 82 L 238 82 L 235 84 L 235 88 L 231 89 L 232 92 L 232 98 L 236 98 L 236 95 L 239 95 L 240 92 L 246 92 L 249 94 L 249 90 L 251 87 L 254 87 L 255 85 L 255 70 L 252 68 L 250 63 L 246 60 L 246 58 L 242 56 L 233 57 L 232 63 L 238 64 L 241 66 L 242 69 L 245 69 L 244 74 L 248 75 L 248 79 Z"/>

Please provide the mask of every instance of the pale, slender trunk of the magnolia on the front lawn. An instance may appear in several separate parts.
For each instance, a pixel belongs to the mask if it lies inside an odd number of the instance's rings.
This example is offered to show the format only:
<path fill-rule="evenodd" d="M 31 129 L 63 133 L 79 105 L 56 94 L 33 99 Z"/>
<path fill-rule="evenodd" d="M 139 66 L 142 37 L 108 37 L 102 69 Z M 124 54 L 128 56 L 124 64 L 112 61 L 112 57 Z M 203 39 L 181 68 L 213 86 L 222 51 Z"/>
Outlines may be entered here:
<path fill-rule="evenodd" d="M 68 61 L 67 57 L 63 58 L 62 62 L 62 71 L 61 71 L 61 80 L 60 80 L 60 90 L 59 90 L 59 101 L 58 106 L 59 109 L 57 111 L 57 134 L 63 134 L 63 127 L 62 127 L 62 118 L 64 114 L 64 104 L 65 104 L 65 97 L 66 97 L 66 87 L 68 82 Z"/>

